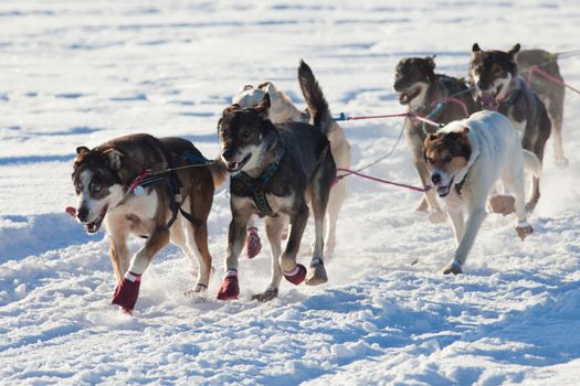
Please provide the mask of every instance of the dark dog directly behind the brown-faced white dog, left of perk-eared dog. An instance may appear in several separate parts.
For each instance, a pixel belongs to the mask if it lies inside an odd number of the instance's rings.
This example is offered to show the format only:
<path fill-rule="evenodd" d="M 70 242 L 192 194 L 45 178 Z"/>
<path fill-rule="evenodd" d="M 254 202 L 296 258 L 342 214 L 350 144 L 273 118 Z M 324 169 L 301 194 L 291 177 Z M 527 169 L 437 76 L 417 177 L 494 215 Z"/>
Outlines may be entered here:
<path fill-rule="evenodd" d="M 394 90 L 399 94 L 399 103 L 408 106 L 410 112 L 429 116 L 440 124 L 466 118 L 479 108 L 470 96 L 463 79 L 435 73 L 433 56 L 405 57 L 397 65 L 394 73 Z M 452 97 L 454 100 L 446 100 Z M 437 104 L 442 103 L 441 107 Z M 404 133 L 407 143 L 413 156 L 413 164 L 423 185 L 430 183 L 429 171 L 423 161 L 423 142 L 429 129 L 424 124 L 407 118 Z M 445 221 L 436 195 L 429 191 L 423 196 L 418 211 L 430 212 L 433 223 Z"/>

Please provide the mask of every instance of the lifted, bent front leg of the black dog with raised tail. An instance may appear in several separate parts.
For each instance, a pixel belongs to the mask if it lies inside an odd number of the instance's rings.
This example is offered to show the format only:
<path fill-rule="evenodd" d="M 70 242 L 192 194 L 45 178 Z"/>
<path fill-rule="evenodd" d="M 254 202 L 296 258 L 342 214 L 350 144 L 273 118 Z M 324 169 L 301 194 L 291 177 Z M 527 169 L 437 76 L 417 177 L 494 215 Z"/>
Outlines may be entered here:
<path fill-rule="evenodd" d="M 306 268 L 296 264 L 296 255 L 300 247 L 302 236 L 304 234 L 304 228 L 308 222 L 308 206 L 303 201 L 299 204 L 299 207 L 292 215 L 292 228 L 286 243 L 286 249 L 280 256 L 280 266 L 282 268 L 282 274 L 293 285 L 299 285 L 306 278 Z"/>

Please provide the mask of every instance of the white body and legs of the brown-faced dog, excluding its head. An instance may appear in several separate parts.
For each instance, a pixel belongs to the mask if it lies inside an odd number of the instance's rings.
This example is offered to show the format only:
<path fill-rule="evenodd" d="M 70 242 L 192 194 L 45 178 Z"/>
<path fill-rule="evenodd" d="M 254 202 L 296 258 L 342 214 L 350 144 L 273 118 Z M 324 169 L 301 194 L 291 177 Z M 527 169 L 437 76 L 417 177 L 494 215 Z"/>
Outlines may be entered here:
<path fill-rule="evenodd" d="M 495 182 L 500 180 L 515 194 L 518 224 L 527 224 L 524 199 L 524 169 L 530 162 L 529 152 L 521 148 L 519 136 L 505 116 L 478 111 L 470 118 L 447 125 L 443 131 L 462 131 L 467 127 L 472 156 L 467 167 L 455 176 L 460 183 L 467 174 L 461 195 L 454 187 L 444 199 L 457 242 L 454 260 L 464 264 L 477 232 L 485 218 L 485 204 Z M 532 168 L 535 173 L 537 163 Z M 451 176 L 445 176 L 450 179 Z M 464 221 L 464 215 L 467 221 Z"/>

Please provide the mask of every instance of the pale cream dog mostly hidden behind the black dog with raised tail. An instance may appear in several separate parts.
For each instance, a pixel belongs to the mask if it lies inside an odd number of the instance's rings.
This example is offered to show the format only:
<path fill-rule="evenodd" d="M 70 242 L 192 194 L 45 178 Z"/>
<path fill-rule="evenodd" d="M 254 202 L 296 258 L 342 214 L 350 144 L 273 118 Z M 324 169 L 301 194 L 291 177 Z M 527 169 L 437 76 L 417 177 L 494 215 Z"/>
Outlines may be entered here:
<path fill-rule="evenodd" d="M 278 90 L 272 82 L 262 83 L 254 88 L 251 85 L 244 86 L 232 99 L 232 103 L 241 107 L 254 107 L 260 104 L 264 96 L 268 94 L 272 107 L 268 109 L 268 119 L 275 124 L 283 124 L 287 121 L 308 122 L 310 112 L 300 111 L 294 106 L 288 96 Z M 337 124 L 333 122 L 327 133 L 330 141 L 330 150 L 335 159 L 337 168 L 350 169 L 351 153 L 350 143 L 345 136 L 345 131 Z M 347 185 L 345 179 L 340 179 L 333 190 L 326 211 L 326 237 L 325 237 L 325 256 L 331 257 L 336 246 L 336 224 L 342 203 L 347 197 Z M 261 245 L 260 239 L 256 242 L 257 233 L 255 230 L 255 216 L 252 216 L 249 222 L 247 229 L 247 254 L 249 257 L 254 257 L 260 253 L 260 249 L 252 248 L 252 246 Z M 251 254 L 252 251 L 252 254 Z M 252 256 L 253 255 L 253 256 Z"/>

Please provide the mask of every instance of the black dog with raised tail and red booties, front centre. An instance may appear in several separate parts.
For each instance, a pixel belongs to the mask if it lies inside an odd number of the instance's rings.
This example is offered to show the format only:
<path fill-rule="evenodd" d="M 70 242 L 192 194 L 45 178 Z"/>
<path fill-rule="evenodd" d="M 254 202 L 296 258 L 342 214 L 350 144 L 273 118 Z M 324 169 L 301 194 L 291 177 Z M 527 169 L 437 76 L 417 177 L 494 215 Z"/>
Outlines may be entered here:
<path fill-rule="evenodd" d="M 267 94 L 255 107 L 228 107 L 218 124 L 221 157 L 231 176 L 232 210 L 226 272 L 218 299 L 236 299 L 240 293 L 238 259 L 253 214 L 265 216 L 272 251 L 272 280 L 265 292 L 254 299 L 275 298 L 283 275 L 294 285 L 305 279 L 312 286 L 327 281 L 323 232 L 330 187 L 336 180 L 336 164 L 327 138 L 334 120 L 313 72 L 304 62 L 298 68 L 298 79 L 312 125 L 272 124 Z M 315 218 L 315 245 L 306 270 L 296 262 L 296 255 L 308 221 L 308 202 Z M 281 235 L 286 216 L 292 229 L 282 253 Z"/>

